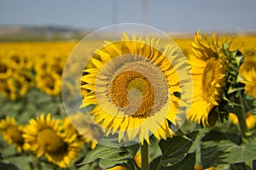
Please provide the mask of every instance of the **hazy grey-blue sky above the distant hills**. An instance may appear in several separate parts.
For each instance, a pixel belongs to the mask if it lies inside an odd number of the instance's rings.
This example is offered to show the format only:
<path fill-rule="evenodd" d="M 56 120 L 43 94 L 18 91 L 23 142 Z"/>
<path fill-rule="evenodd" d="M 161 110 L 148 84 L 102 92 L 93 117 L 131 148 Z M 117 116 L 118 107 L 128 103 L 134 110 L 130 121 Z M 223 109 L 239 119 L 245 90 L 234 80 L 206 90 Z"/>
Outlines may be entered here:
<path fill-rule="evenodd" d="M 115 22 L 146 22 L 162 31 L 256 31 L 256 1 L 0 0 L 0 26 L 98 29 Z"/>

